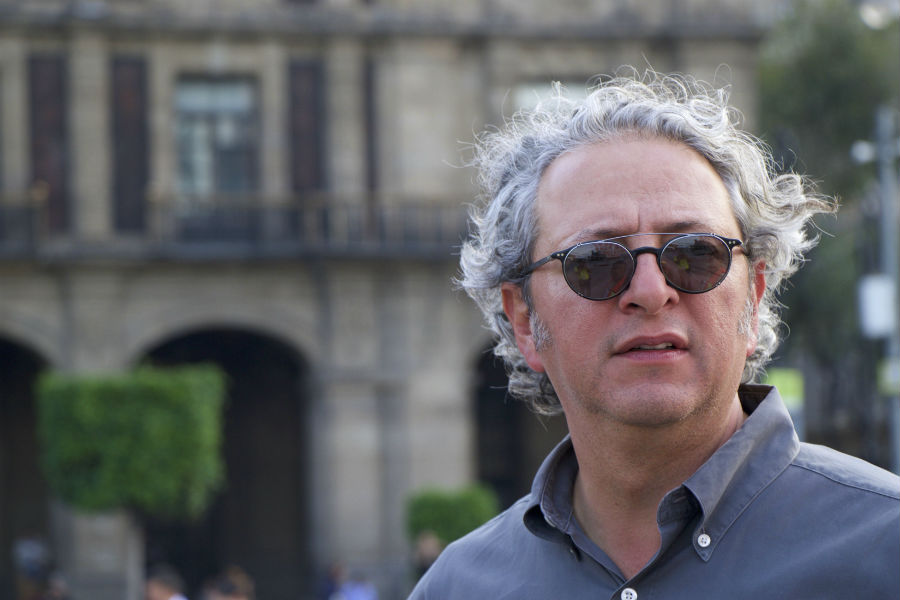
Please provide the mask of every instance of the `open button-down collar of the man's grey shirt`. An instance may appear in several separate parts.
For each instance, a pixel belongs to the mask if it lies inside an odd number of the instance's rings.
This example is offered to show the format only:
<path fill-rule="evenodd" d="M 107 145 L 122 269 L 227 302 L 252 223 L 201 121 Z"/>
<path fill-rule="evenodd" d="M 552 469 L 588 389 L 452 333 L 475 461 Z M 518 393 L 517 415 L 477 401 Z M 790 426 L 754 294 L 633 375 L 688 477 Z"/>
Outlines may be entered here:
<path fill-rule="evenodd" d="M 784 402 L 771 386 L 742 385 L 738 395 L 750 417 L 684 485 L 667 494 L 670 504 L 688 490 L 701 509 L 694 549 L 709 560 L 719 540 L 754 497 L 794 459 L 800 444 Z M 567 542 L 573 518 L 572 489 L 578 463 L 566 436 L 538 469 L 525 511 L 526 527 L 539 537 Z M 660 514 L 667 508 L 661 504 Z M 701 535 L 708 536 L 701 543 Z"/>

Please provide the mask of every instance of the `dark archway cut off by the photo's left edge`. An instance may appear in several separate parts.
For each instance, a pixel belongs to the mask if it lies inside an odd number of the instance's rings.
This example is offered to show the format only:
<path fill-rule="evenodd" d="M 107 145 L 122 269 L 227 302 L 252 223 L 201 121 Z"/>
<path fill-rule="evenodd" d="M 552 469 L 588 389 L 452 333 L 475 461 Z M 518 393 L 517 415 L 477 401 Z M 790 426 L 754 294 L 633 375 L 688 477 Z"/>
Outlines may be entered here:
<path fill-rule="evenodd" d="M 31 350 L 0 338 L 0 598 L 17 598 L 28 585 L 21 576 L 17 581 L 16 543 L 50 538 L 34 402 L 34 383 L 45 366 Z"/>

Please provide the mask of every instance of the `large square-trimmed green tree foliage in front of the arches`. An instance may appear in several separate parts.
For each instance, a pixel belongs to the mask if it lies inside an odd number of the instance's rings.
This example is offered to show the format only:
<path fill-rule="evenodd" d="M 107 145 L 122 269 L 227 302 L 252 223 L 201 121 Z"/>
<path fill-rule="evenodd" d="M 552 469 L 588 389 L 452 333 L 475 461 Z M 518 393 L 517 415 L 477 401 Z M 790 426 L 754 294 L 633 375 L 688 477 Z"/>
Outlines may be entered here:
<path fill-rule="evenodd" d="M 51 488 L 84 510 L 199 516 L 224 481 L 224 393 L 224 375 L 209 365 L 45 373 L 38 435 Z"/>

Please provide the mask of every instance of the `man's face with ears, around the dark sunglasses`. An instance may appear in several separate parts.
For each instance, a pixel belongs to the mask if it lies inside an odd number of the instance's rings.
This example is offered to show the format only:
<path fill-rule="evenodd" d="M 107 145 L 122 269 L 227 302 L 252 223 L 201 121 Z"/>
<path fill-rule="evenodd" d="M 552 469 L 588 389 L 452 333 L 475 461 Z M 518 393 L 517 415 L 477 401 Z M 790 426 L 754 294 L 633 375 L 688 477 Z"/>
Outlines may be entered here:
<path fill-rule="evenodd" d="M 727 190 L 711 165 L 688 147 L 629 139 L 580 148 L 546 170 L 536 204 L 532 259 L 578 242 L 647 233 L 716 233 L 741 238 Z M 623 240 L 661 246 L 669 237 Z M 734 399 L 756 345 L 740 322 L 750 298 L 747 258 L 734 252 L 722 284 L 686 294 L 668 286 L 652 254 L 642 254 L 621 295 L 587 300 L 566 284 L 559 261 L 531 275 L 536 316 L 549 341 L 536 344 L 520 290 L 503 287 L 517 342 L 546 371 L 567 418 L 599 414 L 622 425 L 659 427 L 709 414 Z M 758 270 L 757 273 L 761 273 Z M 756 275 L 761 293 L 764 279 Z M 651 349 L 670 343 L 674 347 Z"/>

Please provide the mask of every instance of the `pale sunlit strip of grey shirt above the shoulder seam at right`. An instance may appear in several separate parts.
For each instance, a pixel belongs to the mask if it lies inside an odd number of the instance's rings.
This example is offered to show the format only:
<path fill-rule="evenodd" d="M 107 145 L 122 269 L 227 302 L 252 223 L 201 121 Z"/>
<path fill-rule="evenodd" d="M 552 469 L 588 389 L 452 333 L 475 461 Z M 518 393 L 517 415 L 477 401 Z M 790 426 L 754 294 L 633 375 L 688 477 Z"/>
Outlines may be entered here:
<path fill-rule="evenodd" d="M 792 463 L 831 482 L 861 493 L 900 500 L 900 477 L 825 446 L 803 443 Z"/>

